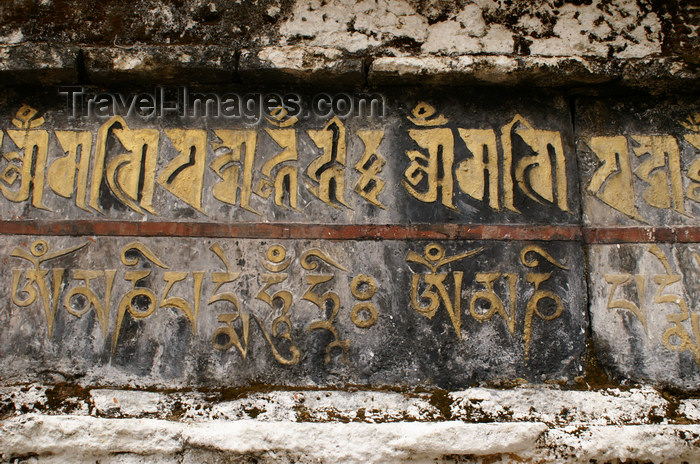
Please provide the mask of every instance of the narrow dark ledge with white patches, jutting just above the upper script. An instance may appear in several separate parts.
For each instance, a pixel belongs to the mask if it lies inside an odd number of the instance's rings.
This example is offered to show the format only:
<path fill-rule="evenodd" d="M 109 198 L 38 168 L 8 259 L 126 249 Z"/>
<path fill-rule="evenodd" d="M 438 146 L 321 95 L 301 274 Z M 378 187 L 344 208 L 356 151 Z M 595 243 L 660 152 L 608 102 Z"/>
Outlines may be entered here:
<path fill-rule="evenodd" d="M 80 54 L 82 53 L 82 57 Z M 88 83 L 533 85 L 696 92 L 700 69 L 678 57 L 515 55 L 373 57 L 317 46 L 235 50 L 219 45 L 0 46 L 6 85 Z M 82 63 L 82 64 L 81 64 Z M 84 67 L 84 69 L 81 69 Z M 84 73 L 83 73 L 84 71 Z M 82 76 L 82 77 L 81 77 Z"/>

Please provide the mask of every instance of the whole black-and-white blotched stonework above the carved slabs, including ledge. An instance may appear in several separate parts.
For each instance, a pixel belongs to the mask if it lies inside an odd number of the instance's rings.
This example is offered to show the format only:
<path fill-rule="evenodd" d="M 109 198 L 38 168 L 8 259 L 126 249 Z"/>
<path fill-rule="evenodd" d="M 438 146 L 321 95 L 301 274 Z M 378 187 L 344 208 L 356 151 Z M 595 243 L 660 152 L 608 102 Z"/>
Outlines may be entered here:
<path fill-rule="evenodd" d="M 692 2 L 142 0 L 125 6 L 22 0 L 0 10 L 0 46 L 46 44 L 52 56 L 71 56 L 62 62 L 75 63 L 73 77 L 92 83 L 117 77 L 158 82 L 180 72 L 192 82 L 229 83 L 240 71 L 252 82 L 303 76 L 305 82 L 361 85 L 372 66 L 373 84 L 387 83 L 387 72 L 403 70 L 404 79 L 437 74 L 451 84 L 613 82 L 654 91 L 697 90 L 700 39 L 692 31 L 698 22 Z M 76 46 L 64 49 L 64 43 Z M 192 50 L 187 57 L 183 47 Z M 228 56 L 217 60 L 219 53 L 211 52 L 216 47 L 240 55 L 240 67 L 234 60 L 232 68 Z M 29 67 L 43 81 L 74 83 L 68 75 L 42 71 L 54 57 L 9 55 L 0 79 L 32 79 L 22 74 Z M 436 65 L 435 57 L 454 61 Z M 156 62 L 163 68 L 148 64 Z M 206 71 L 193 72 L 193 64 Z M 517 72 L 511 72 L 513 66 Z"/>

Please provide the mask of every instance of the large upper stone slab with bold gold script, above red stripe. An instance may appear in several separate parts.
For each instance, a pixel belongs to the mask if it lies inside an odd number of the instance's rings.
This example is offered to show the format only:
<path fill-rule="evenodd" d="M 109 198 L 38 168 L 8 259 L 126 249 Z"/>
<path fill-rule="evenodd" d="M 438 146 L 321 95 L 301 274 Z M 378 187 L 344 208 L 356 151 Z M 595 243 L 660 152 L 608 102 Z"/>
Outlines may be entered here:
<path fill-rule="evenodd" d="M 7 96 L 0 219 L 578 223 L 557 94 L 168 91 Z"/>

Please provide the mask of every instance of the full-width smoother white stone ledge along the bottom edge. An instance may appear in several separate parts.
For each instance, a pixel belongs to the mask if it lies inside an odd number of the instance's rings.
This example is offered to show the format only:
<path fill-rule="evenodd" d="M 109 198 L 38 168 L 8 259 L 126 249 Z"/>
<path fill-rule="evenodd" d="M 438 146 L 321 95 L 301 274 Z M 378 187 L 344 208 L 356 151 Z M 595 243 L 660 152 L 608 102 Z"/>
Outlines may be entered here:
<path fill-rule="evenodd" d="M 680 463 L 700 459 L 699 425 L 567 426 L 538 422 L 175 422 L 26 414 L 2 422 L 0 457 L 18 462 Z M 31 461 L 26 461 L 29 458 Z M 238 462 L 238 461 L 236 461 Z"/>

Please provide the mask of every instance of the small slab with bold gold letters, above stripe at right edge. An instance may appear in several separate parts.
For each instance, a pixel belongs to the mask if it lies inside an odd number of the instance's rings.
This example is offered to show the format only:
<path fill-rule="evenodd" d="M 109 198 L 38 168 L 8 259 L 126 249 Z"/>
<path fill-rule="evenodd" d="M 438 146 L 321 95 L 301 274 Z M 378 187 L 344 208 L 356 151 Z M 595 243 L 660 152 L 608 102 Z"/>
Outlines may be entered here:
<path fill-rule="evenodd" d="M 582 99 L 576 105 L 584 222 L 700 224 L 700 105 Z"/>

